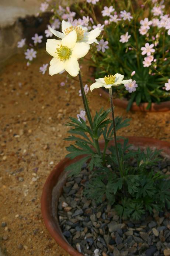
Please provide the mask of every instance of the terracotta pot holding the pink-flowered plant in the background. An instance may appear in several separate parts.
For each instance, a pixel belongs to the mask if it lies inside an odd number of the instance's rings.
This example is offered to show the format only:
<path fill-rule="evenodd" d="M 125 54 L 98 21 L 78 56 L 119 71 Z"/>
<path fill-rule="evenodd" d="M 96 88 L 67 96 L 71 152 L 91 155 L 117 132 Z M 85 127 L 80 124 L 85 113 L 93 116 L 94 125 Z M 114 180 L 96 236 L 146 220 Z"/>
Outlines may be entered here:
<path fill-rule="evenodd" d="M 103 90 L 102 88 L 97 89 L 98 94 L 101 94 L 101 97 L 109 100 L 109 94 L 107 91 Z M 115 98 L 114 99 L 114 105 L 122 108 L 127 108 L 128 106 L 128 100 L 125 98 L 119 99 Z M 133 102 L 131 110 L 132 111 L 144 111 L 144 112 L 158 112 L 158 111 L 169 111 L 170 110 L 170 101 L 163 101 L 160 102 L 159 104 L 157 103 L 152 103 L 151 107 L 149 110 L 146 109 L 148 106 L 148 102 L 145 103 L 140 103 L 139 106 L 136 104 L 136 102 Z"/>

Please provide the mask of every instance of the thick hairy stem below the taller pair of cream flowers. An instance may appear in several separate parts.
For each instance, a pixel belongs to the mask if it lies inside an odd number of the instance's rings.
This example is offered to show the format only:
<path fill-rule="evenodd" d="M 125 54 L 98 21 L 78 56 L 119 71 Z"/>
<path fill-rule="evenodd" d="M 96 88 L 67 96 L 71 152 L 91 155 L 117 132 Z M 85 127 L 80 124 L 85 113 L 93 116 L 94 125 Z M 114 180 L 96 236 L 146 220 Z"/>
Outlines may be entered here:
<path fill-rule="evenodd" d="M 83 82 L 82 82 L 80 71 L 79 71 L 79 81 L 80 81 L 80 90 L 81 90 L 84 110 L 86 111 L 86 115 L 87 115 L 87 119 L 89 120 L 90 127 L 93 130 L 94 125 L 93 125 L 93 121 L 92 121 L 92 118 L 91 118 L 91 113 L 90 113 L 90 109 L 89 109 L 89 104 L 87 102 L 86 94 L 84 92 L 84 87 L 83 87 Z M 94 144 L 95 144 L 95 148 L 97 150 L 98 155 L 101 155 L 98 139 L 94 139 Z"/>

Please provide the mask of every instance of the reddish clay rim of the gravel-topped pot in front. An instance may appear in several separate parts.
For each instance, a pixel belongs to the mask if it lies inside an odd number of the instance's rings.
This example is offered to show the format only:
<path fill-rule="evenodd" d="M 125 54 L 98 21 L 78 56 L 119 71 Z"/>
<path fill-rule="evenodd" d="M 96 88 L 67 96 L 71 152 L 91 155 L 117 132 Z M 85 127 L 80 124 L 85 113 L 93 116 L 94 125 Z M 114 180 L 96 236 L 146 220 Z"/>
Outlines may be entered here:
<path fill-rule="evenodd" d="M 161 141 L 158 139 L 147 138 L 147 137 L 126 137 L 129 139 L 130 144 L 135 146 L 146 147 L 152 146 L 157 149 L 163 149 L 163 151 L 170 156 L 170 142 Z M 100 147 L 103 148 L 104 141 L 100 141 Z M 61 246 L 66 252 L 70 253 L 72 256 L 82 256 L 77 250 L 75 250 L 62 235 L 59 223 L 52 215 L 52 190 L 60 181 L 60 173 L 64 171 L 65 167 L 73 162 L 78 161 L 83 156 L 78 156 L 76 159 L 70 160 L 64 158 L 62 161 L 56 165 L 52 172 L 49 174 L 48 178 L 43 187 L 42 197 L 41 197 L 41 212 L 44 219 L 44 223 L 49 233 L 55 239 L 59 246 Z"/>

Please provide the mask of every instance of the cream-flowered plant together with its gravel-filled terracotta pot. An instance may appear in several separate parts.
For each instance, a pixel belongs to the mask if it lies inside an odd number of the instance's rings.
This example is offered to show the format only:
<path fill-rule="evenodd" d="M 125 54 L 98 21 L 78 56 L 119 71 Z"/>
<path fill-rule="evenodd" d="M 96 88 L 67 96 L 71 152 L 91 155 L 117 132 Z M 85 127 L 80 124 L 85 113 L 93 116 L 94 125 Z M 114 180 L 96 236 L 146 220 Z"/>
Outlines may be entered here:
<path fill-rule="evenodd" d="M 63 21 L 62 26 L 68 24 Z M 170 207 L 170 181 L 166 172 L 170 166 L 167 160 L 170 144 L 136 137 L 129 138 L 131 145 L 128 138 L 117 137 L 116 131 L 126 127 L 129 120 L 115 118 L 112 88 L 132 82 L 123 80 L 121 74 L 98 78 L 90 86 L 90 90 L 100 87 L 109 90 L 111 106 L 109 110 L 102 108 L 92 118 L 77 61 L 87 54 L 90 46 L 87 42 L 77 42 L 77 30 L 74 27 L 62 40 L 49 39 L 46 43 L 46 50 L 53 56 L 51 75 L 64 69 L 73 77 L 79 75 L 89 122 L 85 121 L 84 112 L 78 119 L 70 117 L 67 140 L 75 143 L 67 147 L 67 158 L 55 167 L 45 183 L 42 194 L 45 224 L 71 255 L 142 255 L 143 252 L 153 255 L 163 250 L 165 253 L 169 250 L 166 209 Z M 92 34 L 95 40 L 100 31 Z M 158 246 L 159 239 L 163 245 Z"/>

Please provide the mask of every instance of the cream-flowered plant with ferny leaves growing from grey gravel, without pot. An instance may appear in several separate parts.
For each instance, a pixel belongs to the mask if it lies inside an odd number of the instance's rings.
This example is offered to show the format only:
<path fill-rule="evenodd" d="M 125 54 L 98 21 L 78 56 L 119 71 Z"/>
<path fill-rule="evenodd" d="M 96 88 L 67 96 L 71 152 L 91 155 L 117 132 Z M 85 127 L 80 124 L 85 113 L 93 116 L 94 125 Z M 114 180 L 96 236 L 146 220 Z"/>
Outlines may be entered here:
<path fill-rule="evenodd" d="M 67 166 L 68 175 L 79 175 L 83 164 L 87 163 L 91 178 L 84 189 L 85 195 L 97 203 L 107 200 L 123 218 L 139 219 L 146 210 L 152 213 L 154 209 L 160 211 L 169 208 L 170 181 L 166 175 L 154 171 L 154 166 L 160 161 L 160 151 L 149 148 L 146 152 L 140 149 L 134 151 L 128 139 L 117 137 L 116 134 L 118 129 L 129 125 L 129 119 L 114 116 L 112 88 L 121 84 L 132 88 L 132 80 L 124 80 L 124 75 L 119 73 L 97 78 L 90 90 L 99 87 L 109 90 L 111 107 L 108 110 L 101 108 L 94 118 L 91 116 L 86 98 L 87 86 L 83 87 L 77 64 L 77 59 L 89 51 L 90 42 L 76 43 L 76 30 L 70 30 L 61 41 L 49 39 L 46 43 L 48 53 L 53 56 L 53 67 L 49 68 L 49 73 L 57 74 L 64 69 L 72 76 L 79 75 L 80 95 L 85 110 L 77 115 L 78 119 L 70 117 L 70 122 L 66 124 L 71 127 L 70 136 L 66 140 L 74 142 L 66 148 L 69 152 L 67 157 L 74 159 L 82 155 L 81 159 Z M 86 122 L 85 114 L 89 122 Z M 99 146 L 100 138 L 104 138 L 103 151 Z M 134 161 L 135 164 L 132 164 Z"/>

